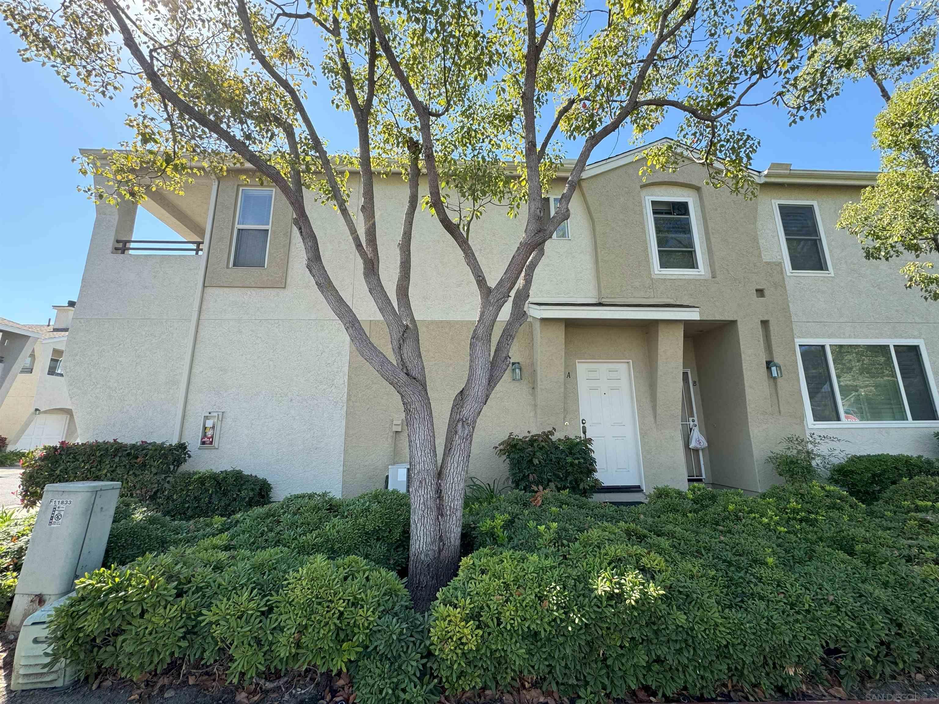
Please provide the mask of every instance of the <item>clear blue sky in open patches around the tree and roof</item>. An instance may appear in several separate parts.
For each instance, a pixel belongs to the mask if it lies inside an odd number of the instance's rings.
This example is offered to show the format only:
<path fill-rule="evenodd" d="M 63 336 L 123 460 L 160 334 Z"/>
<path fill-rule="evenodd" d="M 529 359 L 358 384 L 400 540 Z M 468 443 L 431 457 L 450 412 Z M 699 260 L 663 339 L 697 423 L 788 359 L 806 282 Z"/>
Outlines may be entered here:
<path fill-rule="evenodd" d="M 94 108 L 67 88 L 48 68 L 23 64 L 19 39 L 0 30 L 0 316 L 21 323 L 44 323 L 50 306 L 76 298 L 94 222 L 94 207 L 76 191 L 83 177 L 71 159 L 83 147 L 114 146 L 130 136 L 124 126 L 124 100 Z M 313 100 L 320 124 L 334 147 L 351 147 L 346 115 L 328 99 Z M 870 130 L 882 102 L 868 83 L 849 85 L 821 119 L 790 128 L 772 107 L 751 111 L 741 124 L 761 140 L 754 167 L 789 161 L 795 168 L 874 170 Z M 328 119 L 324 119 L 328 118 Z M 666 136 L 665 133 L 654 137 Z M 593 161 L 628 148 L 626 137 L 610 138 Z"/>

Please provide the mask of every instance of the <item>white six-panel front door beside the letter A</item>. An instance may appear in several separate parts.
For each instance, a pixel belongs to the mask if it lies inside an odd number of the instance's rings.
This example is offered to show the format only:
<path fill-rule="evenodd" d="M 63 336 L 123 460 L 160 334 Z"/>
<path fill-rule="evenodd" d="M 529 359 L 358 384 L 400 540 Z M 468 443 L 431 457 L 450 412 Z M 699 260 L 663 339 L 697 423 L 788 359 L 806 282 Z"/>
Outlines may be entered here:
<path fill-rule="evenodd" d="M 578 361 L 580 429 L 593 439 L 596 476 L 605 486 L 639 486 L 641 454 L 628 361 Z"/>

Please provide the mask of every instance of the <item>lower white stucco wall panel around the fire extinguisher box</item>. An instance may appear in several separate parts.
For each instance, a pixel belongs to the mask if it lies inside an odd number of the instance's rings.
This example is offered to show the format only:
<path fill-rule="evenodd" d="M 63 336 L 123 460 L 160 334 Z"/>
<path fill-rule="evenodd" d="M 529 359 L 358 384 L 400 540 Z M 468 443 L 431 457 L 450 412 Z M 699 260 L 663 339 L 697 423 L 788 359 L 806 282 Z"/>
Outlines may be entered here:
<path fill-rule="evenodd" d="M 347 340 L 335 321 L 203 319 L 183 424 L 187 467 L 257 474 L 274 498 L 340 494 Z M 209 411 L 224 416 L 219 447 L 205 450 Z"/>

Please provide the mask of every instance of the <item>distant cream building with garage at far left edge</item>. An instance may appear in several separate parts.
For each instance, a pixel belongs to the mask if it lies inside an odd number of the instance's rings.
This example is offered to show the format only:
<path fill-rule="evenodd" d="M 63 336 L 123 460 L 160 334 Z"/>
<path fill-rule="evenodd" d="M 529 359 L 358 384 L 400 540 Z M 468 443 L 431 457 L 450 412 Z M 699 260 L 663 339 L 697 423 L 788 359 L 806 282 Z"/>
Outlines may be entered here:
<path fill-rule="evenodd" d="M 78 436 L 64 371 L 75 301 L 53 309 L 49 325 L 0 318 L 0 436 L 11 449 L 32 450 Z"/>

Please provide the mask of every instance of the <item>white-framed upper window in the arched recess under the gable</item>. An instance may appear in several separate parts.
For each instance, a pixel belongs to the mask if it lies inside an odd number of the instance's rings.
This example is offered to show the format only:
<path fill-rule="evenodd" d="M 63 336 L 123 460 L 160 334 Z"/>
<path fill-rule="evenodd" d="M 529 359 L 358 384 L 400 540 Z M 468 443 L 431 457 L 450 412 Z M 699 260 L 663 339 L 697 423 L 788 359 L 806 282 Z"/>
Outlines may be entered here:
<path fill-rule="evenodd" d="M 691 198 L 646 196 L 656 274 L 700 274 L 701 248 Z"/>

